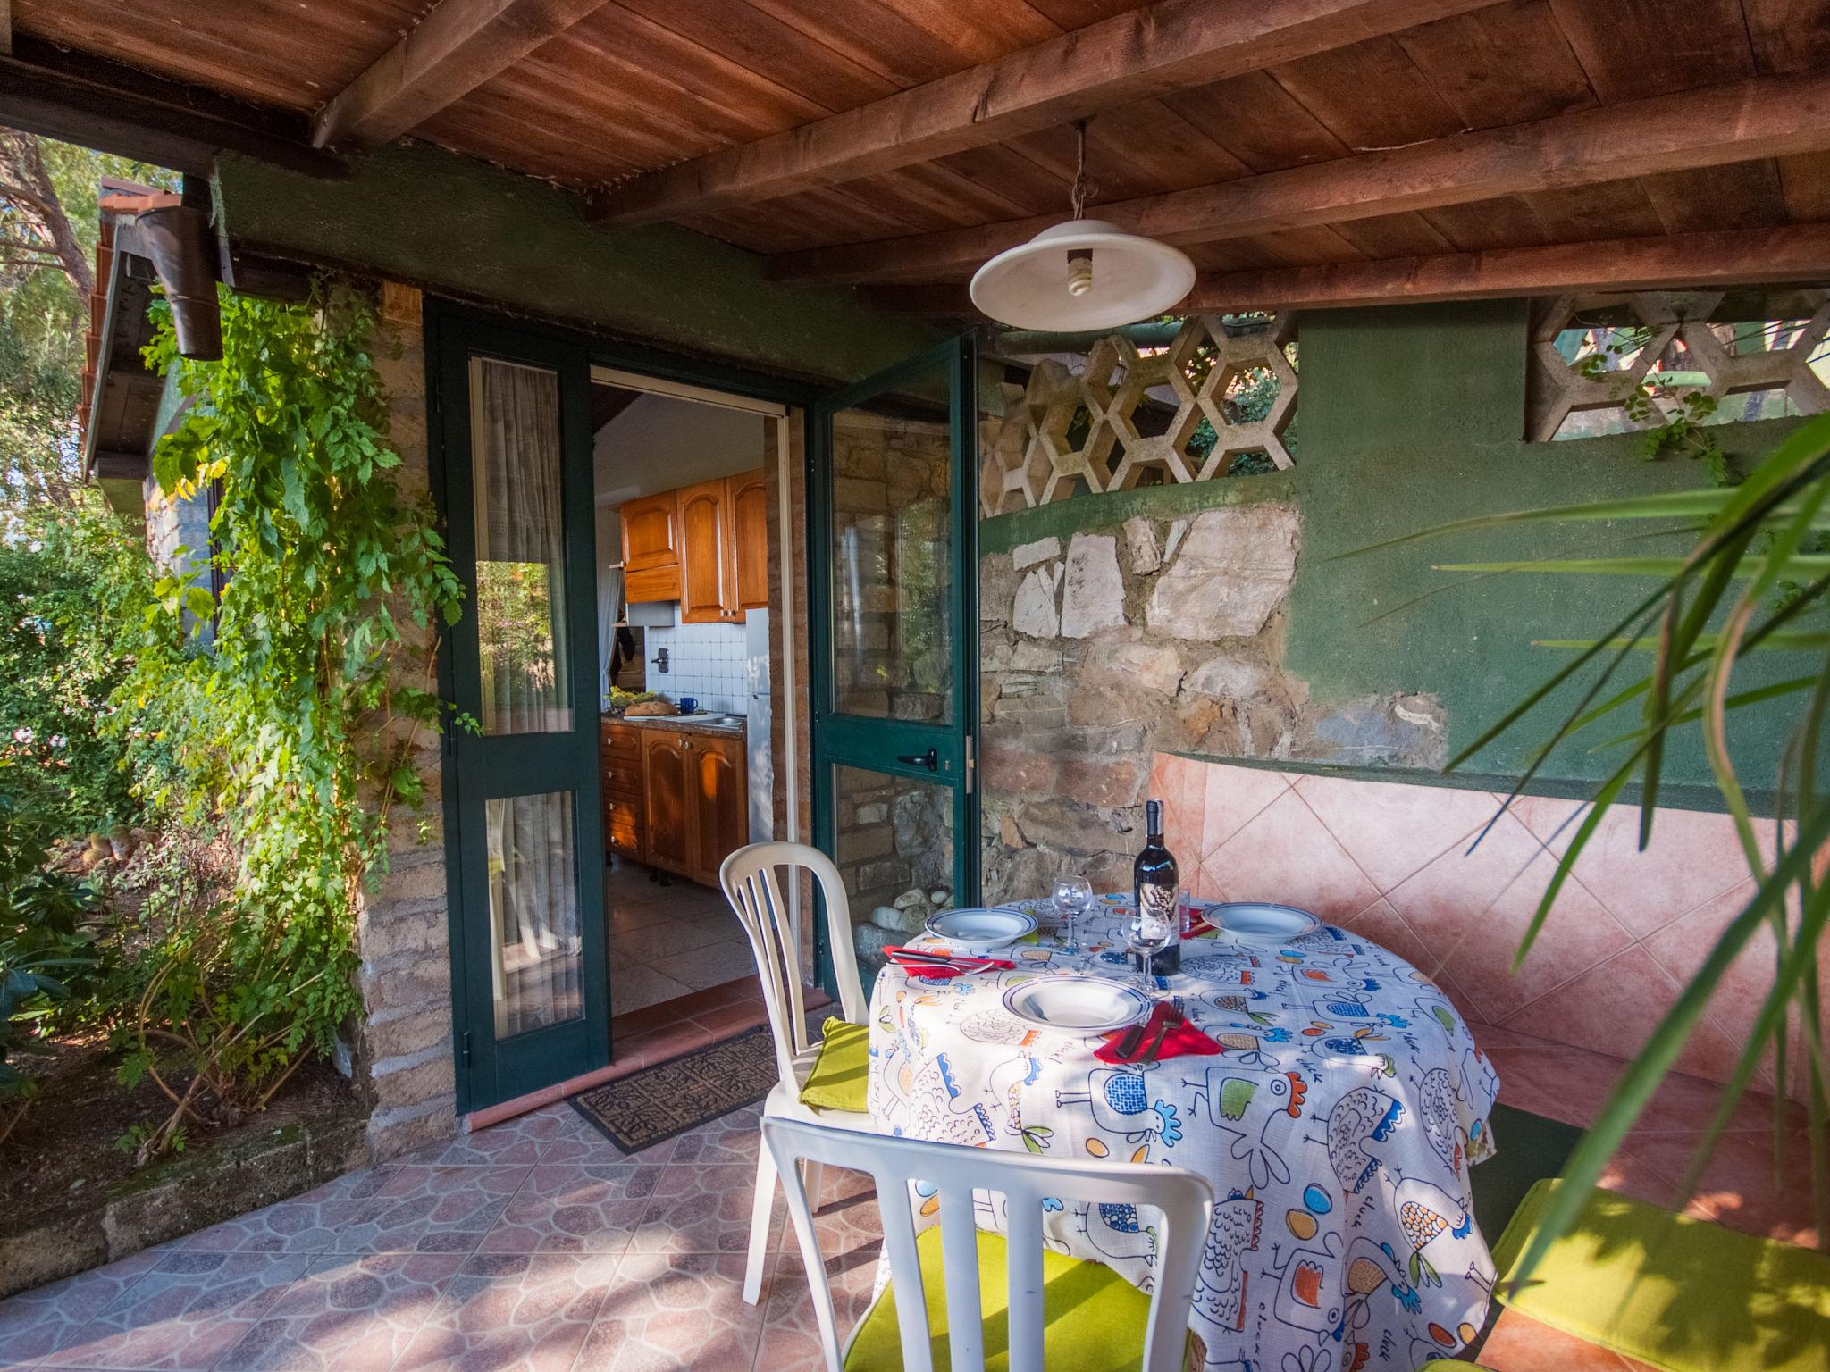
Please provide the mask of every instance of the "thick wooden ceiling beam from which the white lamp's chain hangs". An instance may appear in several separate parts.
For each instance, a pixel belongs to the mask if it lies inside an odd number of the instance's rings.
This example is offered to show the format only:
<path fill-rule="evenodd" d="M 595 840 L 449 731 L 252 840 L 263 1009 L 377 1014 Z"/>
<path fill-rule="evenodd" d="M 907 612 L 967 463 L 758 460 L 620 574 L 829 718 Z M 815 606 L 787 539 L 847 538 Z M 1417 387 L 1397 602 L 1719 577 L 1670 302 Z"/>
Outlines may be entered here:
<path fill-rule="evenodd" d="M 1158 0 L 856 110 L 622 181 L 598 196 L 595 218 L 657 223 L 889 172 L 1491 2 Z"/>

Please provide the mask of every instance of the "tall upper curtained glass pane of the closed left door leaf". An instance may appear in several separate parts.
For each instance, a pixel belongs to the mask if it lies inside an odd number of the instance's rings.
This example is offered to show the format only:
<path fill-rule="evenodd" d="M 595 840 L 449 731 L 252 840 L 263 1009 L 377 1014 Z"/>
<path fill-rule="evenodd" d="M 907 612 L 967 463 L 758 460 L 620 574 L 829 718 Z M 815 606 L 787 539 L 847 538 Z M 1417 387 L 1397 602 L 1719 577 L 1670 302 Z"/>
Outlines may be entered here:
<path fill-rule="evenodd" d="M 470 359 L 470 470 L 479 724 L 483 734 L 569 732 L 556 371 Z"/>

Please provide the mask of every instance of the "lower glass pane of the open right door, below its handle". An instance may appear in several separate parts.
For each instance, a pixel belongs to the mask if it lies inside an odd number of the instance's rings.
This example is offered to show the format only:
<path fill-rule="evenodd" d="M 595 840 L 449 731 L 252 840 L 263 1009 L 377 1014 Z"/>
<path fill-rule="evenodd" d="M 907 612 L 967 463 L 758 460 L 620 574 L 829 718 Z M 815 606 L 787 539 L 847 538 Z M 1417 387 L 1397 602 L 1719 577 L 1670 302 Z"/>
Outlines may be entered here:
<path fill-rule="evenodd" d="M 878 906 L 922 893 L 920 909 L 952 906 L 953 788 L 939 781 L 889 776 L 862 766 L 833 768 L 833 820 L 838 873 L 853 920 Z M 944 900 L 933 902 L 933 893 Z M 915 907 L 904 907 L 913 916 Z M 919 926 L 917 926 L 919 927 Z"/>

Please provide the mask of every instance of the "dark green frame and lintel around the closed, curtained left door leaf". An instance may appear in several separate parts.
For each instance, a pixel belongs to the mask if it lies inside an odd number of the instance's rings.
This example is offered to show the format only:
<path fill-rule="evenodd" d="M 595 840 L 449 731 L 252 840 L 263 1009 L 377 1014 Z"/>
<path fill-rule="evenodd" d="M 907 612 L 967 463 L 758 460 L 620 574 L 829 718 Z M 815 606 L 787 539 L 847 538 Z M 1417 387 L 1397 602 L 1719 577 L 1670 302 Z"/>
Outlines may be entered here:
<path fill-rule="evenodd" d="M 476 776 L 479 770 L 468 757 L 467 745 L 487 743 L 474 735 L 458 737 L 454 728 L 447 728 L 441 741 L 441 783 L 445 816 L 445 880 L 448 891 L 448 935 L 450 935 L 450 973 L 452 973 L 452 1043 L 456 1045 L 456 1109 L 459 1114 L 514 1099 L 520 1094 L 549 1087 L 567 1077 L 608 1067 L 611 1057 L 609 1041 L 609 981 L 604 949 L 602 920 L 591 920 L 591 909 L 602 909 L 604 874 L 604 834 L 598 821 L 598 719 L 597 695 L 597 527 L 591 518 L 591 434 L 589 434 L 589 370 L 591 366 L 615 368 L 619 371 L 639 373 L 657 381 L 675 381 L 690 386 L 728 391 L 761 401 L 800 406 L 811 410 L 824 393 L 822 388 L 802 381 L 770 377 L 767 373 L 730 368 L 703 359 L 686 357 L 662 348 L 642 348 L 635 344 L 609 342 L 578 329 L 565 329 L 549 324 L 536 324 L 496 311 L 465 305 L 452 300 L 426 296 L 425 315 L 425 359 L 426 359 L 426 434 L 430 456 L 432 499 L 439 510 L 447 534 L 447 551 L 465 584 L 463 618 L 450 631 L 448 651 L 439 653 L 439 695 L 454 701 L 461 710 L 474 712 L 476 684 L 476 534 L 470 503 L 470 408 L 468 408 L 468 355 L 472 351 L 487 357 L 527 362 L 531 366 L 560 368 L 562 393 L 562 461 L 567 466 L 571 487 L 565 492 L 567 525 L 567 589 L 582 563 L 587 595 L 573 595 L 567 609 L 567 629 L 571 635 L 573 662 L 573 699 L 591 702 L 580 708 L 578 724 L 569 739 L 573 756 L 562 759 L 560 770 L 544 770 L 545 763 L 536 763 L 533 756 L 514 757 L 511 748 L 503 748 L 505 757 L 494 759 L 489 776 Z M 567 382 L 567 377 L 571 381 Z M 578 412 L 578 406 L 584 410 Z M 569 415 L 569 417 L 567 417 Z M 582 434 L 582 443 L 576 434 Z M 811 446 L 811 445 L 809 445 Z M 575 487 L 584 479 L 582 521 Z M 465 701 L 459 684 L 472 699 Z M 586 739 L 589 735 L 589 739 Z M 514 735 L 525 743 L 527 735 Z M 481 759 L 479 759 L 481 761 Z M 534 1043 L 544 1039 L 547 1030 L 536 1030 L 518 1039 L 509 1039 L 512 1052 L 496 1052 L 490 1015 L 490 955 L 487 929 L 478 922 L 465 920 L 465 891 L 474 887 L 474 873 L 467 873 L 467 863 L 483 862 L 481 816 L 483 801 L 494 796 L 518 794 L 520 790 L 554 790 L 553 777 L 564 776 L 567 766 L 589 772 L 580 777 L 575 788 L 575 854 L 578 858 L 578 898 L 580 911 L 586 913 L 586 929 L 597 926 L 595 955 L 587 938 L 586 993 L 598 995 L 602 1004 L 597 1013 L 587 1013 L 586 1026 L 565 1043 Z M 500 772 L 494 768 L 500 766 Z M 467 882 L 470 884 L 467 887 Z M 487 909 L 487 898 L 485 898 Z M 476 927 L 470 927 L 476 926 Z M 481 935 L 481 937 L 479 937 Z M 587 1002 L 587 1012 L 591 1010 Z M 567 1028 L 567 1026 L 556 1026 Z M 525 1045 L 520 1039 L 527 1039 Z M 551 1048 L 551 1052 L 549 1052 Z"/>

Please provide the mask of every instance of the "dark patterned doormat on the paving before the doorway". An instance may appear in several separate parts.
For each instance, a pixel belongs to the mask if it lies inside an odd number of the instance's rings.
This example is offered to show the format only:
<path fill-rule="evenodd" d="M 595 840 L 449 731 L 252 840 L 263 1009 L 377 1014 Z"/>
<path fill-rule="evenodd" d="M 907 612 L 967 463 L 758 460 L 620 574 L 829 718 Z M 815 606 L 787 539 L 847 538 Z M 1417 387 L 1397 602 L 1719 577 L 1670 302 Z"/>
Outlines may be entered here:
<path fill-rule="evenodd" d="M 640 1152 L 756 1105 L 780 1077 L 774 1034 L 756 1028 L 567 1099 L 619 1149 Z"/>

